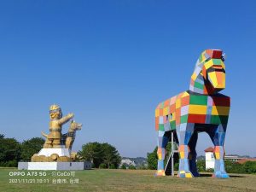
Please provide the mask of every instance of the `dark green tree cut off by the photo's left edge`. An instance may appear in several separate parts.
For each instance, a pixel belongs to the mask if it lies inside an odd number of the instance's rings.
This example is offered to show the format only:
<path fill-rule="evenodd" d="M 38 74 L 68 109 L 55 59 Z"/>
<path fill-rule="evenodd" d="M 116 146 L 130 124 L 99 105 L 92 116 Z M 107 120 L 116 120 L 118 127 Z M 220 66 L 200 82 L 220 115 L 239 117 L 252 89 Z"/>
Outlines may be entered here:
<path fill-rule="evenodd" d="M 20 160 L 20 143 L 15 138 L 0 139 L 0 166 L 17 166 Z"/>

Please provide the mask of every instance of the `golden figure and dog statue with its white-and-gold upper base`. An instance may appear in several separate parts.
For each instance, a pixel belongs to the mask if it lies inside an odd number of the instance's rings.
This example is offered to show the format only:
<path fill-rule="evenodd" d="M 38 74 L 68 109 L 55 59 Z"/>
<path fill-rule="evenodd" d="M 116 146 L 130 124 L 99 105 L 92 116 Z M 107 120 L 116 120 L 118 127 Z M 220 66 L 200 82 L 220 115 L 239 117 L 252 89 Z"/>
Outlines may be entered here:
<path fill-rule="evenodd" d="M 58 105 L 49 107 L 49 134 L 42 131 L 45 137 L 44 148 L 38 154 L 32 156 L 32 162 L 69 162 L 76 160 L 77 154 L 71 152 L 75 133 L 81 130 L 82 124 L 73 120 L 74 113 L 62 116 L 61 108 Z M 70 126 L 66 134 L 62 134 L 62 125 L 70 121 Z"/>

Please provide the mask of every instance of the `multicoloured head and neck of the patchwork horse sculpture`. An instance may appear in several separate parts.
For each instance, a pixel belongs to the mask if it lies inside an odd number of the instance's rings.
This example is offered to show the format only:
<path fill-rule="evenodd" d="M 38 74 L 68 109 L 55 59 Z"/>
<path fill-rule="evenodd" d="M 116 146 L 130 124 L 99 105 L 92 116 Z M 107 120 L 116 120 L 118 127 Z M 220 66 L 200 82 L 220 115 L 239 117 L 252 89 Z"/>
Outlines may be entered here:
<path fill-rule="evenodd" d="M 225 88 L 224 54 L 220 49 L 203 51 L 196 61 L 189 90 L 212 95 Z"/>

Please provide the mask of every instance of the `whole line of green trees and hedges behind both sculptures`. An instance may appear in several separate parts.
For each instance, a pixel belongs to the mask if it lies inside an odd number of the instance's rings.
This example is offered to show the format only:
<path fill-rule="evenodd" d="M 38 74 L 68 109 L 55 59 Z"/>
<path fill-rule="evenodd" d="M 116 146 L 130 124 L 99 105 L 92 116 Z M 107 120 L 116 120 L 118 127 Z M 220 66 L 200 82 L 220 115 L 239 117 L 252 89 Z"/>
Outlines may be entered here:
<path fill-rule="evenodd" d="M 43 148 L 44 139 L 41 137 L 32 137 L 19 143 L 15 138 L 6 138 L 0 134 L 0 166 L 18 166 L 19 161 L 30 161 L 33 154 L 37 154 Z M 171 143 L 166 146 L 166 161 L 171 153 Z M 121 157 L 118 150 L 108 143 L 86 143 L 79 150 L 79 160 L 88 160 L 96 168 L 118 168 Z M 147 154 L 148 167 L 143 169 L 157 169 L 157 147 L 153 152 Z M 126 169 L 123 165 L 120 168 Z M 136 169 L 135 166 L 129 166 L 129 169 Z M 197 168 L 199 172 L 213 172 L 212 169 L 206 170 L 205 160 L 197 160 Z M 234 161 L 225 160 L 225 168 L 229 173 L 256 173 L 256 162 L 247 161 L 244 164 L 238 164 Z M 174 169 L 178 169 L 178 163 Z"/>

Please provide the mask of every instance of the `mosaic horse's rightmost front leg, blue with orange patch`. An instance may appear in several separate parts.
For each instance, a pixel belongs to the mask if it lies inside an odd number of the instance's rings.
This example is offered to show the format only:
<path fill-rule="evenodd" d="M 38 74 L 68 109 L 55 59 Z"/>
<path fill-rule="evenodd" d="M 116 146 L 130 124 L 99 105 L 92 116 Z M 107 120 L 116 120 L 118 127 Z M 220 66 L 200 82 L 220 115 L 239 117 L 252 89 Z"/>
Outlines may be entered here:
<path fill-rule="evenodd" d="M 209 136 L 212 139 L 212 143 L 214 144 L 215 166 L 214 166 L 214 174 L 212 175 L 212 177 L 221 177 L 221 178 L 229 177 L 229 175 L 225 171 L 225 166 L 224 166 L 225 132 L 226 132 L 226 126 L 223 126 L 223 125 L 218 125 L 217 128 L 208 132 Z"/>

